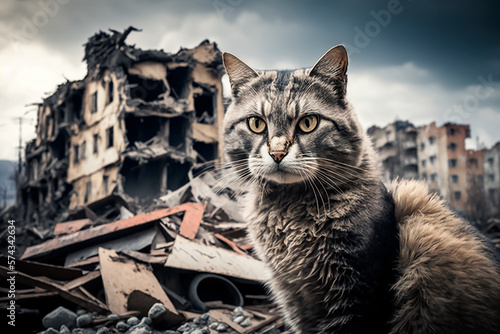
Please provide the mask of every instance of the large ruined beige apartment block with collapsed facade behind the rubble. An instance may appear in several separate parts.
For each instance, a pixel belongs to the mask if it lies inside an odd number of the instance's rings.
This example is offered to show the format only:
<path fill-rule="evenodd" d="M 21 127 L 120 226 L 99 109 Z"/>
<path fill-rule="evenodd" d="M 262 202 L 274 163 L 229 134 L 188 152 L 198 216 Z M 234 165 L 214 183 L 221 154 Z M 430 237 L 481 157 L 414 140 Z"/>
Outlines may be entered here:
<path fill-rule="evenodd" d="M 219 157 L 224 72 L 217 45 L 141 50 L 125 44 L 134 30 L 92 36 L 86 77 L 60 85 L 39 106 L 18 200 L 22 219 L 39 229 L 133 209 Z"/>

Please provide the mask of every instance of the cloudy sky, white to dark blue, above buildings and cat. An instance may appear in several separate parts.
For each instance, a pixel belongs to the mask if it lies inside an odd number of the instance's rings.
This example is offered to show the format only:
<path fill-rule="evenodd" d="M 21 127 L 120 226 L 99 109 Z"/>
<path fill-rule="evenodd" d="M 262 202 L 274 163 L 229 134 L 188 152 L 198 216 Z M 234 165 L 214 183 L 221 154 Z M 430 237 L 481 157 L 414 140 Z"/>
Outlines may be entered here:
<path fill-rule="evenodd" d="M 0 159 L 15 160 L 18 121 L 34 138 L 41 102 L 85 76 L 83 47 L 108 28 L 142 29 L 142 49 L 177 52 L 204 39 L 256 69 L 310 67 L 330 47 L 350 53 L 348 97 L 365 128 L 395 119 L 471 124 L 500 140 L 500 2 L 0 1 Z"/>

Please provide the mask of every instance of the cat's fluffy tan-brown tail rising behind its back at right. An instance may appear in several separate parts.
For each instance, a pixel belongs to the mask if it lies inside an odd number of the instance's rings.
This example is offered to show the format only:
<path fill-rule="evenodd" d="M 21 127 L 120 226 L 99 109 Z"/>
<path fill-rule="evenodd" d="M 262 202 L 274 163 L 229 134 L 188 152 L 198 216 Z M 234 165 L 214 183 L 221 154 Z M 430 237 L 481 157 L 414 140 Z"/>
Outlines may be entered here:
<path fill-rule="evenodd" d="M 500 271 L 479 232 L 418 181 L 393 182 L 395 333 L 498 333 Z"/>

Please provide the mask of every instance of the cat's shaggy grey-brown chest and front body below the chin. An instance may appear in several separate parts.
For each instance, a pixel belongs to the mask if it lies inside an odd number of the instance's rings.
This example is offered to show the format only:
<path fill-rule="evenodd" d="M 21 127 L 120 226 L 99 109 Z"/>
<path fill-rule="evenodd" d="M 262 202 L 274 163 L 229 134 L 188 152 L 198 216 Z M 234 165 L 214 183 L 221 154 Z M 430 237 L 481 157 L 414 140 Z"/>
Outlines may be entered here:
<path fill-rule="evenodd" d="M 355 322 L 376 332 L 374 323 L 383 322 L 383 316 L 367 311 L 374 298 L 388 298 L 395 248 L 392 206 L 379 190 L 370 205 L 379 205 L 382 214 L 371 216 L 368 201 L 356 193 L 332 195 L 329 201 L 323 195 L 323 206 L 317 194 L 282 189 L 255 194 L 249 203 L 250 237 L 270 268 L 271 290 L 287 322 L 300 324 L 293 331 L 328 332 Z"/>

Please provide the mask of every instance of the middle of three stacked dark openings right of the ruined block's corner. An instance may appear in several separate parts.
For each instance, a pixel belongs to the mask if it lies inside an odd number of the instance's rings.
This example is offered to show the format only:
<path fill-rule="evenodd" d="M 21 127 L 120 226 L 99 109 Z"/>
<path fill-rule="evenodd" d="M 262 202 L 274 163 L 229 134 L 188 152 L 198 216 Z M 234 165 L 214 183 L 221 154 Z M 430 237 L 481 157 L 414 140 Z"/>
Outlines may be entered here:
<path fill-rule="evenodd" d="M 162 119 L 160 117 L 137 117 L 128 114 L 125 117 L 125 129 L 129 145 L 135 142 L 147 142 L 158 135 L 161 129 Z"/>

